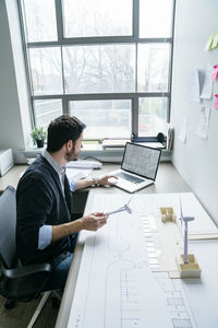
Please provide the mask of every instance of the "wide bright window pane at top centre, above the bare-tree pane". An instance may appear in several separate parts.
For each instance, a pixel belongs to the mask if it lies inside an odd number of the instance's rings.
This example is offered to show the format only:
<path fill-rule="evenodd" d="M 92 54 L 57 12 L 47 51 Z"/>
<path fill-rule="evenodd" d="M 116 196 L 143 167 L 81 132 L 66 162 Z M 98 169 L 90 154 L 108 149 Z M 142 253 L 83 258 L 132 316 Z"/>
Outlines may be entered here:
<path fill-rule="evenodd" d="M 132 0 L 63 0 L 64 37 L 132 35 Z"/>

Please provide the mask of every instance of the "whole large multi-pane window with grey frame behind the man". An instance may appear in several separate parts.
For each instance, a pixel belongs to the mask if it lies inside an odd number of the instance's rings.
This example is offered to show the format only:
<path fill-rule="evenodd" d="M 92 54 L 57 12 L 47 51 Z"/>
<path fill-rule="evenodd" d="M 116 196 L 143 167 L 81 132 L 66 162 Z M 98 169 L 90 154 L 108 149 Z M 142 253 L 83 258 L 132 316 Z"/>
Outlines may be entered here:
<path fill-rule="evenodd" d="M 36 126 L 156 137 L 170 117 L 174 0 L 17 0 Z"/>

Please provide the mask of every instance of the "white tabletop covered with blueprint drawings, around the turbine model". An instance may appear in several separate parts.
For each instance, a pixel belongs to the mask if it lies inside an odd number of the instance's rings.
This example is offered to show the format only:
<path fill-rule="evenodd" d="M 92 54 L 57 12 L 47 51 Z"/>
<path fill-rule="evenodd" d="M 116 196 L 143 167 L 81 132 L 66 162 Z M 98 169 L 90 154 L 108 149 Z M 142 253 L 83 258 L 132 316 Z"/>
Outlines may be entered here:
<path fill-rule="evenodd" d="M 181 196 L 184 212 L 189 206 L 196 218 L 197 224 L 190 224 L 190 231 L 215 231 L 216 226 L 192 194 Z M 187 196 L 189 201 L 185 201 Z M 101 211 L 104 202 L 108 211 L 111 206 L 119 207 L 129 198 L 129 195 L 98 194 L 88 201 L 93 211 Z M 203 269 L 201 279 L 172 280 L 160 270 L 149 271 L 153 265 L 147 257 L 147 237 L 142 233 L 138 216 L 157 212 L 159 206 L 170 202 L 178 213 L 177 195 L 136 195 L 132 200 L 135 213 L 116 214 L 98 232 L 81 234 L 81 242 L 86 238 L 86 243 L 69 328 L 217 327 L 215 268 L 218 241 L 192 242 L 192 251 Z M 152 234 L 148 235 L 152 238 Z"/>

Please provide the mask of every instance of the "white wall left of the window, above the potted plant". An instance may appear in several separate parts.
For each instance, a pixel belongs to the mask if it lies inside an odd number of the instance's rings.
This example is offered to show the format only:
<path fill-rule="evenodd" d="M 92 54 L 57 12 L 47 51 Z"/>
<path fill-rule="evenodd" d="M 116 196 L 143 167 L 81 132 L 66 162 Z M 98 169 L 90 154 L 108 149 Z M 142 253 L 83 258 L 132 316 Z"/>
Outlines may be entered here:
<path fill-rule="evenodd" d="M 0 149 L 29 145 L 29 105 L 15 0 L 0 1 Z"/>

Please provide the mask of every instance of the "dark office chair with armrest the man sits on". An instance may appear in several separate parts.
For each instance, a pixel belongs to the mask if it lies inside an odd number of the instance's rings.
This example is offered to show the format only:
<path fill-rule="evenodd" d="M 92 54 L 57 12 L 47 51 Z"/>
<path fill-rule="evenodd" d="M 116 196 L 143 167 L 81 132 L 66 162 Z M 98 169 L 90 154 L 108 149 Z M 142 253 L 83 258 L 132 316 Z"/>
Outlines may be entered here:
<path fill-rule="evenodd" d="M 51 272 L 50 263 L 22 266 L 16 255 L 16 199 L 15 189 L 9 186 L 0 196 L 0 294 L 7 298 L 5 308 L 12 308 L 15 302 L 29 302 L 44 291 L 44 285 Z M 60 295 L 55 292 L 56 296 Z M 44 296 L 27 328 L 34 326 L 51 291 L 44 291 Z"/>

